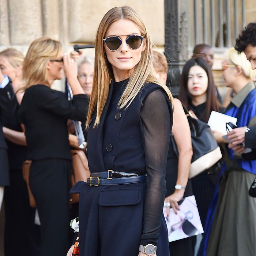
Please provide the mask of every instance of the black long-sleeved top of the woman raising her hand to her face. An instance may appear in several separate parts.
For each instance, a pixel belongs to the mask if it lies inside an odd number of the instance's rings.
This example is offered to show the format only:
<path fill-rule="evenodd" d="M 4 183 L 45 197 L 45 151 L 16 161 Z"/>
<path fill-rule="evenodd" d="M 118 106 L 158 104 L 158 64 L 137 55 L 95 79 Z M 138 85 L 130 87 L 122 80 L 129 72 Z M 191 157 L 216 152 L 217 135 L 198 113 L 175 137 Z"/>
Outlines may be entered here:
<path fill-rule="evenodd" d="M 82 121 L 86 114 L 84 94 L 68 101 L 64 93 L 43 84 L 29 87 L 18 112 L 26 129 L 28 159 L 71 159 L 67 120 Z"/>

